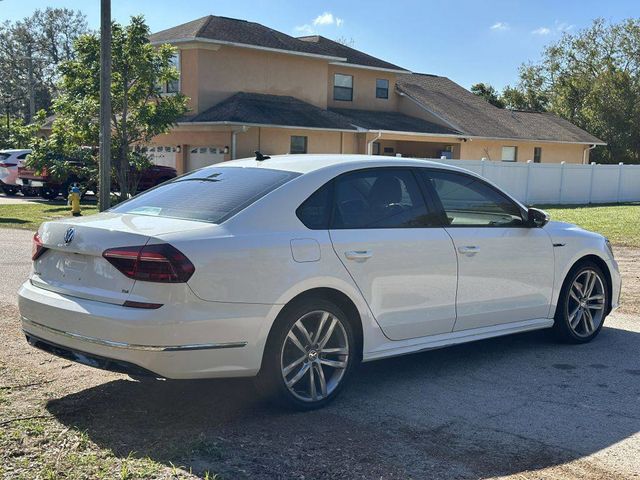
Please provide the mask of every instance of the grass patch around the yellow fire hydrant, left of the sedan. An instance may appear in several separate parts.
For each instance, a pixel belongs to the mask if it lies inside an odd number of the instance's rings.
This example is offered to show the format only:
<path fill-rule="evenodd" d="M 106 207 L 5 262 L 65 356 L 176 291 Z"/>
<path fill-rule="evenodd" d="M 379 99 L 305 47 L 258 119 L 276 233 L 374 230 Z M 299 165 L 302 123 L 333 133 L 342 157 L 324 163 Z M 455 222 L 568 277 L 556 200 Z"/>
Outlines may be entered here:
<path fill-rule="evenodd" d="M 98 208 L 95 204 L 82 204 L 83 215 L 97 212 Z M 64 217 L 71 217 L 71 207 L 61 200 L 0 205 L 0 227 L 5 228 L 23 228 L 35 231 L 42 222 Z"/>

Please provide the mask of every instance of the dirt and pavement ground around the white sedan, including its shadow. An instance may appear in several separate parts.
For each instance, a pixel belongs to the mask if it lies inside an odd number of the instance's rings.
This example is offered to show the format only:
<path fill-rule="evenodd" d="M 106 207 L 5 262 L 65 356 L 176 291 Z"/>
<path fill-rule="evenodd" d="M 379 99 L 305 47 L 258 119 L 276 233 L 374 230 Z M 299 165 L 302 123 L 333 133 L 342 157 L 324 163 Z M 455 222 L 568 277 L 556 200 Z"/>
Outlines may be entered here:
<path fill-rule="evenodd" d="M 139 383 L 52 357 L 2 297 L 0 477 L 640 479 L 640 249 L 616 256 L 624 305 L 596 341 L 534 332 L 365 364 L 311 413 L 247 380 Z M 0 278 L 25 268 L 5 263 Z"/>

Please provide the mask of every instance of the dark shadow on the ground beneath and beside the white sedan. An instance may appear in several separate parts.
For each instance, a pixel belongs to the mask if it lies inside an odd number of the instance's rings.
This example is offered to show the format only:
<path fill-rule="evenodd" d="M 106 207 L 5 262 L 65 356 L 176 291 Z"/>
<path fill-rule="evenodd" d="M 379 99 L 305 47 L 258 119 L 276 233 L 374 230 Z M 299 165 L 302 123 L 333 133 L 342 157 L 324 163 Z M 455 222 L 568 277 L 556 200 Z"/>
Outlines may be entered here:
<path fill-rule="evenodd" d="M 639 352 L 640 334 L 617 328 L 579 346 L 533 332 L 364 364 L 308 413 L 270 406 L 249 380 L 116 380 L 47 409 L 123 458 L 225 478 L 492 477 L 640 431 Z"/>

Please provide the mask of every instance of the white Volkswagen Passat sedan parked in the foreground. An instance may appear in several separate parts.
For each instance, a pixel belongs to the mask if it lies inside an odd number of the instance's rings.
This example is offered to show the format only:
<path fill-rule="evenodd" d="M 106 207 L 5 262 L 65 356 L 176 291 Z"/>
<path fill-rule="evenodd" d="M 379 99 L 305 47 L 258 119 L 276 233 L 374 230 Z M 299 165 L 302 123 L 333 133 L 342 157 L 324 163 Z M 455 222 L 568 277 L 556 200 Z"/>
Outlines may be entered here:
<path fill-rule="evenodd" d="M 361 360 L 549 327 L 593 339 L 619 300 L 611 247 L 548 220 L 422 160 L 227 162 L 44 223 L 19 292 L 23 329 L 95 367 L 256 376 L 314 408 Z"/>

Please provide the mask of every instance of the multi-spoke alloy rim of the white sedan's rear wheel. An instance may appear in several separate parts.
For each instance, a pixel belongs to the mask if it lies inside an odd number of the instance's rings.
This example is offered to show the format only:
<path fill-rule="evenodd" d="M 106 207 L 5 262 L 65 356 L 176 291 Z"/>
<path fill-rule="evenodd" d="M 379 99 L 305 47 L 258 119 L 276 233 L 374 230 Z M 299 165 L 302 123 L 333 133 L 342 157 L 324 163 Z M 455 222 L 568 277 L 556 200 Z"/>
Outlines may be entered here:
<path fill-rule="evenodd" d="M 349 340 L 342 321 L 316 310 L 298 319 L 280 354 L 282 378 L 304 402 L 324 400 L 338 387 L 349 363 Z"/>

